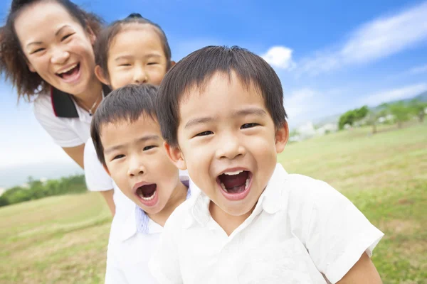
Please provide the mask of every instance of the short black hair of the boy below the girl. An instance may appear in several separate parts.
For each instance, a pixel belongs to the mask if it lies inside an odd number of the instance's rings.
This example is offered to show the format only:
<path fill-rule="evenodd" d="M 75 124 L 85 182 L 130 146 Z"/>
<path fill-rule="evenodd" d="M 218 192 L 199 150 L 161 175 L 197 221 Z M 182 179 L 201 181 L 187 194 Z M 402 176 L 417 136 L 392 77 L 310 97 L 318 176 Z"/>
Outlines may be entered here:
<path fill-rule="evenodd" d="M 104 146 L 100 135 L 102 126 L 119 121 L 132 123 L 143 114 L 155 119 L 157 90 L 158 87 L 152 84 L 129 84 L 115 89 L 102 100 L 90 124 L 90 136 L 102 165 L 105 165 Z"/>

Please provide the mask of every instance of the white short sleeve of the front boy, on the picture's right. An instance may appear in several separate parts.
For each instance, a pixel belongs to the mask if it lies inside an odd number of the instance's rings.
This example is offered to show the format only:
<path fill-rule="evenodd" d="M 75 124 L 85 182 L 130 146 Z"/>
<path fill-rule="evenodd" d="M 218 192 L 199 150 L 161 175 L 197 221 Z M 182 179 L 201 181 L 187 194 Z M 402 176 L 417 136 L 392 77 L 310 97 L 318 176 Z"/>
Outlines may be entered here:
<path fill-rule="evenodd" d="M 300 222 L 308 224 L 304 242 L 315 266 L 331 283 L 337 283 L 364 252 L 371 257 L 384 234 L 344 195 L 317 182 L 315 190 L 305 192 L 313 200 L 311 214 L 307 214 L 310 220 Z"/>

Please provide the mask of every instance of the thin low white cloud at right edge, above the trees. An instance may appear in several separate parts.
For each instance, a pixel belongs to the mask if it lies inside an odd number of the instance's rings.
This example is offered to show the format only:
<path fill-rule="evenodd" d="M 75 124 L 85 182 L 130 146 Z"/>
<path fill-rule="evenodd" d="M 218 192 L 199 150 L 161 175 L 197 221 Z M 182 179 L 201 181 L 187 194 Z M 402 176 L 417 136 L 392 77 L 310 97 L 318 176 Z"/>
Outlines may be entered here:
<path fill-rule="evenodd" d="M 427 90 L 427 83 L 412 84 L 396 89 L 388 89 L 382 92 L 371 94 L 361 99 L 361 104 L 376 106 L 384 102 L 391 102 L 399 99 L 408 99 Z"/>

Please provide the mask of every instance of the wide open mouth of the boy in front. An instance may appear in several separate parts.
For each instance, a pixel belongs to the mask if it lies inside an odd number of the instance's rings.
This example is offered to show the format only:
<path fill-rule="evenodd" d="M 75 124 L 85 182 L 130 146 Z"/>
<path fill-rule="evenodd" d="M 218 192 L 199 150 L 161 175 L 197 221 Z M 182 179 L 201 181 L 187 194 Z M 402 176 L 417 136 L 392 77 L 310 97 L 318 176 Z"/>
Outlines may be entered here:
<path fill-rule="evenodd" d="M 221 186 L 226 197 L 234 195 L 234 197 L 231 197 L 232 199 L 242 199 L 246 197 L 245 192 L 247 193 L 251 186 L 252 173 L 248 170 L 236 170 L 218 175 L 216 181 Z"/>

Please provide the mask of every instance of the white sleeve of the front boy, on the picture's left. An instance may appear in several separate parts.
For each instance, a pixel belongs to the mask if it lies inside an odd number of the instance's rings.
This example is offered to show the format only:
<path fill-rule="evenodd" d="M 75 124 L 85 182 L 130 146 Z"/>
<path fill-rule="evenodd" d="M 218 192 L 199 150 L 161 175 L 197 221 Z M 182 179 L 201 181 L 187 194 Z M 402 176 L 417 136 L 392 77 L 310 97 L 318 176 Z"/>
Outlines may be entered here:
<path fill-rule="evenodd" d="M 176 222 L 179 219 L 174 214 L 176 211 L 172 213 L 164 225 L 157 249 L 154 250 L 152 258 L 149 261 L 150 272 L 157 282 L 162 284 L 183 283 L 177 246 L 179 242 L 174 239 L 174 237 L 179 235 L 176 234 L 176 229 L 179 229 L 176 227 L 176 223 L 180 223 Z"/>

